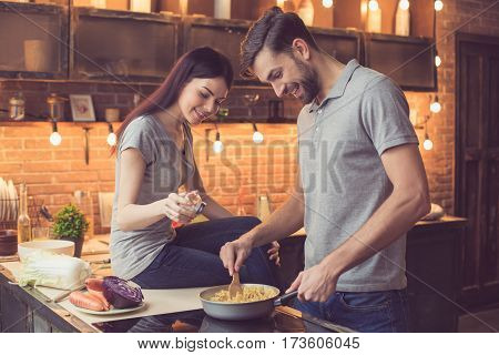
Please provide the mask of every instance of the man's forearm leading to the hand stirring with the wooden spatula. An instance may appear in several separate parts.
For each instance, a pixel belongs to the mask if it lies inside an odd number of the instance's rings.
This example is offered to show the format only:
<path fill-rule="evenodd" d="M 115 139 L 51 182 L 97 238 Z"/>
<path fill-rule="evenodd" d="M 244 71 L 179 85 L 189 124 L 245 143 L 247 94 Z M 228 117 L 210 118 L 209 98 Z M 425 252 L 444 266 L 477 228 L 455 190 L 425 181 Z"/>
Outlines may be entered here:
<path fill-rule="evenodd" d="M 248 237 L 253 246 L 261 246 L 282 240 L 303 227 L 304 200 L 299 193 L 293 193 L 264 223 L 243 237 Z"/>

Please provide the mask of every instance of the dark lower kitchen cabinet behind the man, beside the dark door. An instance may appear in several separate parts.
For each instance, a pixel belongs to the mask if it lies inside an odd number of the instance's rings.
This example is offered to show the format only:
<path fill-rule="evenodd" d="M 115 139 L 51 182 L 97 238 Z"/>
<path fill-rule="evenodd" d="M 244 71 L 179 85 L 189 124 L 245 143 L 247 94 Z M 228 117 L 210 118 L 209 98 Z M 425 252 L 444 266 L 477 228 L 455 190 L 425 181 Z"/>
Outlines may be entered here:
<path fill-rule="evenodd" d="M 419 222 L 407 233 L 406 274 L 413 332 L 457 332 L 466 220 Z"/>

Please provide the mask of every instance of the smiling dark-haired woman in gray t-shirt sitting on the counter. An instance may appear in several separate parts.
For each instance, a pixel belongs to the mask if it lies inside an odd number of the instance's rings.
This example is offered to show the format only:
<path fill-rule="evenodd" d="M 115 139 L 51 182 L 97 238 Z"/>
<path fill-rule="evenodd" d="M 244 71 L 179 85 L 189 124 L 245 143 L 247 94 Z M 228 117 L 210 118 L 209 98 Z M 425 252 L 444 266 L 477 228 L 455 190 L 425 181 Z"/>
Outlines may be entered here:
<path fill-rule="evenodd" d="M 213 116 L 226 99 L 233 71 L 211 48 L 184 54 L 160 88 L 138 105 L 118 131 L 111 263 L 116 276 L 144 288 L 230 283 L 218 257 L 222 245 L 259 221 L 234 217 L 203 187 L 190 124 Z M 180 229 L 196 214 L 185 191 L 198 191 L 211 221 Z M 256 248 L 241 271 L 246 283 L 275 284 L 272 263 L 278 246 Z M 267 257 L 267 253 L 271 257 Z"/>

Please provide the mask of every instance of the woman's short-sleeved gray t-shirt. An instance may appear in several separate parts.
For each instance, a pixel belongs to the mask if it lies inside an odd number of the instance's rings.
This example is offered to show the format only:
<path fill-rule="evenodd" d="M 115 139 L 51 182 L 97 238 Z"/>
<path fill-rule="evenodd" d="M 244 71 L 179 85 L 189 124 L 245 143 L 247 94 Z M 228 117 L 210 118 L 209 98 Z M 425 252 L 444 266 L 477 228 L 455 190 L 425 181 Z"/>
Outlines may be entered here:
<path fill-rule="evenodd" d="M 118 150 L 115 166 L 115 193 L 111 223 L 111 263 L 114 275 L 130 280 L 144 271 L 157 256 L 166 243 L 175 239 L 175 230 L 169 219 L 130 232 L 118 227 L 118 196 L 120 195 L 121 153 L 126 149 L 136 149 L 144 162 L 145 171 L 135 204 L 145 205 L 166 199 L 177 192 L 187 176 L 196 170 L 192 133 L 184 123 L 185 144 L 179 150 L 170 139 L 162 123 L 153 115 L 143 115 L 132 121 L 123 132 Z"/>

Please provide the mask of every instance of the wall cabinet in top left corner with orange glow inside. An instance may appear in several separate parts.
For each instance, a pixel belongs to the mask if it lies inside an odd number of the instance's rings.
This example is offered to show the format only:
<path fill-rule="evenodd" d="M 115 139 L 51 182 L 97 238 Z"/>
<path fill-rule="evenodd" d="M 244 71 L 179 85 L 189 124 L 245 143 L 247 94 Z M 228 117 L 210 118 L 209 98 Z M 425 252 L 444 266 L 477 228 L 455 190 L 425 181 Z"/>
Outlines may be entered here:
<path fill-rule="evenodd" d="M 68 8 L 0 2 L 0 78 L 68 77 Z"/>

